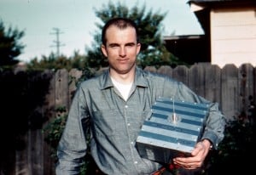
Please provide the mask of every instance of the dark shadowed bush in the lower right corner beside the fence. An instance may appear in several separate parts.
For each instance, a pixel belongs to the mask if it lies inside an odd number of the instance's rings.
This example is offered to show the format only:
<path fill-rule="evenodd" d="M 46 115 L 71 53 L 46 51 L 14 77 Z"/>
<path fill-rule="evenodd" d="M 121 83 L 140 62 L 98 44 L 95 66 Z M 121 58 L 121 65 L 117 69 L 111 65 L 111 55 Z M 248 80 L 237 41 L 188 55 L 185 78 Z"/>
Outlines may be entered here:
<path fill-rule="evenodd" d="M 228 122 L 224 140 L 218 150 L 212 152 L 209 168 L 205 174 L 250 174 L 254 171 L 255 155 L 255 105 Z"/>

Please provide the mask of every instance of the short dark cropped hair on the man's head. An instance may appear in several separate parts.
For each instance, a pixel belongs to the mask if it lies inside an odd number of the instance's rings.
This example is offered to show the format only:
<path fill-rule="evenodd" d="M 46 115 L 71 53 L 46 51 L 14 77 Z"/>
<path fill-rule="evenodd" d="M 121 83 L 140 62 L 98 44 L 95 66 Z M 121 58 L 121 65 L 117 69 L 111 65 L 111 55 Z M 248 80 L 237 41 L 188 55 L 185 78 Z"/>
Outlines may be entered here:
<path fill-rule="evenodd" d="M 103 26 L 102 29 L 102 44 L 106 45 L 107 38 L 106 38 L 106 31 L 111 26 L 117 26 L 119 29 L 125 29 L 127 27 L 132 27 L 136 31 L 136 37 L 137 42 L 139 42 L 139 36 L 138 36 L 138 28 L 136 23 L 133 20 L 127 19 L 127 18 L 113 18 L 111 20 L 108 20 L 108 22 Z"/>

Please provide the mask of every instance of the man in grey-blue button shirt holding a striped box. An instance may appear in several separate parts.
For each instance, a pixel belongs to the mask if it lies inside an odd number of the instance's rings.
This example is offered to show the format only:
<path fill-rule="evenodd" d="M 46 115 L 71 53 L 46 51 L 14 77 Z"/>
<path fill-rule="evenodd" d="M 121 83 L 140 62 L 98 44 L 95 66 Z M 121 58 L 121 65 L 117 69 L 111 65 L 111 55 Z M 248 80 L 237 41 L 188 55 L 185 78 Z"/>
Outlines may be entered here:
<path fill-rule="evenodd" d="M 58 147 L 56 174 L 78 174 L 89 147 L 84 131 L 90 129 L 90 153 L 104 174 L 150 174 L 162 165 L 143 159 L 136 139 L 154 101 L 174 97 L 188 102 L 209 103 L 170 77 L 143 71 L 136 65 L 141 44 L 135 23 L 109 20 L 102 30 L 102 53 L 109 69 L 101 76 L 82 82 L 73 98 L 67 125 Z M 210 147 L 224 138 L 224 116 L 211 103 L 201 142 L 191 157 L 172 162 L 187 170 L 201 167 Z"/>

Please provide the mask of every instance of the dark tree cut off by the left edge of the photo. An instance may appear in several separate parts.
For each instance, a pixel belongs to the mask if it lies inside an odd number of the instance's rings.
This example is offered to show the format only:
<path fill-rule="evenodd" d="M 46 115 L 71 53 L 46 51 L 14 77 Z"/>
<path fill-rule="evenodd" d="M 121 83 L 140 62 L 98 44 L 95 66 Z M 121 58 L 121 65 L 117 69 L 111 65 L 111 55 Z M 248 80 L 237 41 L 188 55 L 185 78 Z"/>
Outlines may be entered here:
<path fill-rule="evenodd" d="M 24 35 L 24 31 L 18 31 L 18 29 L 11 27 L 6 31 L 3 21 L 0 21 L 0 67 L 15 65 L 19 62 L 15 58 L 22 53 L 25 47 L 19 42 Z"/>

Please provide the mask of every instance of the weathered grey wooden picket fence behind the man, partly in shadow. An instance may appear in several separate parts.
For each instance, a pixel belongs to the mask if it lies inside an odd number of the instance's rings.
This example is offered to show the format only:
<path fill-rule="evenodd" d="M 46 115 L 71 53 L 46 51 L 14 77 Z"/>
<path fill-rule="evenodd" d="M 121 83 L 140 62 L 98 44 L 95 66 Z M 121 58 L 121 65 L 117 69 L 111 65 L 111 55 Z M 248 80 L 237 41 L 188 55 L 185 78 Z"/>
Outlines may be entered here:
<path fill-rule="evenodd" d="M 188 68 L 161 66 L 145 70 L 181 81 L 195 93 L 220 104 L 224 115 L 232 119 L 247 114 L 255 103 L 256 71 L 252 65 L 198 64 Z M 81 71 L 1 72 L 0 97 L 3 104 L 0 122 L 0 175 L 51 175 L 55 163 L 42 128 L 55 117 L 56 106 L 71 104 Z M 24 93 L 26 92 L 26 94 Z M 28 95 L 27 95 L 28 94 Z M 6 114 L 6 115 L 3 115 Z"/>

